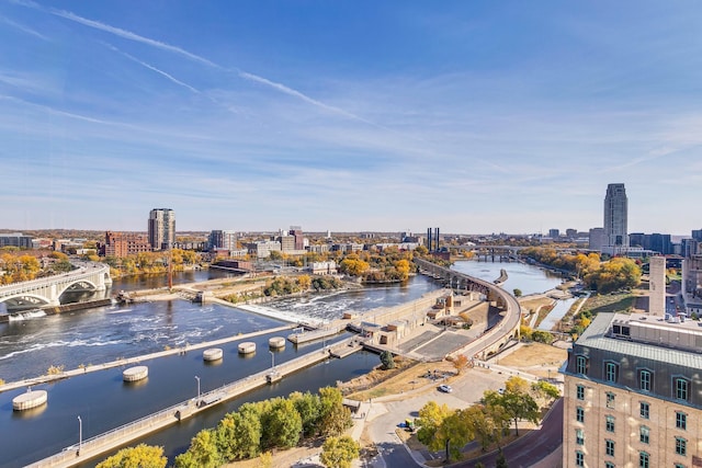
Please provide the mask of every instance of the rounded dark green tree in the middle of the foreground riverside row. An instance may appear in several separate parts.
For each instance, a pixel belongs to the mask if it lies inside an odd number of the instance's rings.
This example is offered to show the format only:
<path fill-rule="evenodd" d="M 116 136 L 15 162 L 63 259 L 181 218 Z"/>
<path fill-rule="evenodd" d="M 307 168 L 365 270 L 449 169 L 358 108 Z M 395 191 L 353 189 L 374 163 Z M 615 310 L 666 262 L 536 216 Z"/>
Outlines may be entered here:
<path fill-rule="evenodd" d="M 261 418 L 261 445 L 264 448 L 290 448 L 297 445 L 303 431 L 303 420 L 293 402 L 286 398 L 273 400 Z"/>

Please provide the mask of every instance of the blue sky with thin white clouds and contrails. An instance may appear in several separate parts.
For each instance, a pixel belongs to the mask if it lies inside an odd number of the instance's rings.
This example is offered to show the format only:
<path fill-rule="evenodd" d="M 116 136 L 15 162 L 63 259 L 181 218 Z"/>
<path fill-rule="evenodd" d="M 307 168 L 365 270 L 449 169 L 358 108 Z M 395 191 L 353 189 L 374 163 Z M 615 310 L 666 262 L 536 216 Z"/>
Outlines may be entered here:
<path fill-rule="evenodd" d="M 702 3 L 0 1 L 0 228 L 702 227 Z"/>

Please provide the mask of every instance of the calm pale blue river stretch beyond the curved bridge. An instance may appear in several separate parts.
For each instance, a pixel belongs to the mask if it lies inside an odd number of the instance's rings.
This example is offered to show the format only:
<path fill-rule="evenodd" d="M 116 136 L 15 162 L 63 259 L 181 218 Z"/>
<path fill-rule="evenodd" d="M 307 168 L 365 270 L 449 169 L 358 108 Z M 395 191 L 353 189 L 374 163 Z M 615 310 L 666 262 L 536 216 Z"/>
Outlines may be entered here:
<path fill-rule="evenodd" d="M 512 293 L 518 288 L 523 295 L 544 293 L 562 283 L 559 274 L 525 263 L 467 260 L 455 262 L 452 269 L 490 283 L 500 276 L 500 270 L 505 270 L 508 276 L 502 284 L 505 290 Z"/>

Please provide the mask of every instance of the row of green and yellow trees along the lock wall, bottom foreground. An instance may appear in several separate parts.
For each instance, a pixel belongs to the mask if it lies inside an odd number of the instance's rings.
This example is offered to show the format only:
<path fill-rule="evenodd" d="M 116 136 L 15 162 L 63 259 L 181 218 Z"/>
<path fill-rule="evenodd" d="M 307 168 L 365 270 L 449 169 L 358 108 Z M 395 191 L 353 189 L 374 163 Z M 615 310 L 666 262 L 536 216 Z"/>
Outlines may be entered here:
<path fill-rule="evenodd" d="M 173 466 L 216 468 L 227 463 L 256 458 L 270 450 L 292 448 L 301 441 L 313 437 L 331 440 L 351 425 L 351 412 L 342 403 L 341 391 L 333 387 L 321 388 L 315 395 L 297 391 L 287 398 L 244 403 L 237 411 L 227 413 L 216 427 L 200 431 L 188 450 L 176 457 Z M 147 450 L 145 447 L 148 446 L 135 447 L 140 449 L 144 459 L 132 458 L 132 465 L 124 465 L 124 455 L 115 459 L 117 454 L 98 464 L 97 468 L 166 466 L 158 450 Z"/>

